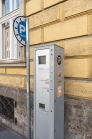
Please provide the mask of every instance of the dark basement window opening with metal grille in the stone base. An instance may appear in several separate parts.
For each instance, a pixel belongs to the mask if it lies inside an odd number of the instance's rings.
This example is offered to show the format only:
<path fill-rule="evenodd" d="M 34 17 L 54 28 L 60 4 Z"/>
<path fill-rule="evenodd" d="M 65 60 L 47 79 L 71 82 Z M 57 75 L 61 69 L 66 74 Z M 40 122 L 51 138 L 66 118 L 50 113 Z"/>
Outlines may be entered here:
<path fill-rule="evenodd" d="M 0 95 L 0 114 L 16 122 L 16 118 L 14 118 L 14 107 L 15 101 L 13 99 Z"/>

